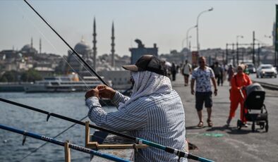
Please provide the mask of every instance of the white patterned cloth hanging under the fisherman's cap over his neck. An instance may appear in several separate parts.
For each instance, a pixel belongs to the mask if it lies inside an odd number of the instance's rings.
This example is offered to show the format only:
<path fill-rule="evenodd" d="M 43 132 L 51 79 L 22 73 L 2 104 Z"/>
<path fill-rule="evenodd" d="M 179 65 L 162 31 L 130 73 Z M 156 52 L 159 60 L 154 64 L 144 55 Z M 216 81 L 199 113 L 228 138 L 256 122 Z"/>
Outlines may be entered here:
<path fill-rule="evenodd" d="M 119 109 L 143 96 L 171 93 L 172 87 L 169 77 L 150 71 L 131 72 L 131 76 L 134 80 L 131 98 L 125 103 L 119 103 Z"/>

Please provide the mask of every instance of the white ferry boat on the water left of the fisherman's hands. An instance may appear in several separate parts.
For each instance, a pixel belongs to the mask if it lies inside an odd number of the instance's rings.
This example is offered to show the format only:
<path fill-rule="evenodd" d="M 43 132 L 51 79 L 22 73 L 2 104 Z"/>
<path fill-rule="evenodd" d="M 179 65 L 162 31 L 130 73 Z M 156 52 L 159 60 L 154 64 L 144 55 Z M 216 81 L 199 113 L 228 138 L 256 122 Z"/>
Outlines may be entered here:
<path fill-rule="evenodd" d="M 104 79 L 104 77 L 102 77 Z M 30 92 L 84 92 L 95 88 L 102 82 L 97 77 L 83 77 L 80 81 L 77 74 L 44 77 L 44 80 L 24 85 L 24 91 Z"/>

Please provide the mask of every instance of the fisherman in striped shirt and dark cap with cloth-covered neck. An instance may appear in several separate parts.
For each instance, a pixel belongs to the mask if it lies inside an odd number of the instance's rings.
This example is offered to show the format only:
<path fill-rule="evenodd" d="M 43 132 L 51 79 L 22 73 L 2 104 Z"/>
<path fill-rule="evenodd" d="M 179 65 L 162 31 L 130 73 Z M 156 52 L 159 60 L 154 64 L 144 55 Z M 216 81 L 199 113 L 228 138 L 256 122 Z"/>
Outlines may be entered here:
<path fill-rule="evenodd" d="M 186 147 L 185 113 L 181 98 L 171 87 L 162 61 L 144 55 L 135 65 L 123 66 L 131 71 L 131 97 L 99 85 L 85 94 L 88 117 L 101 127 L 147 139 L 157 144 L 184 150 Z M 99 98 L 111 99 L 118 108 L 107 113 Z M 178 161 L 179 157 L 164 150 L 147 147 L 138 149 L 135 161 Z M 187 161 L 183 158 L 182 161 Z"/>

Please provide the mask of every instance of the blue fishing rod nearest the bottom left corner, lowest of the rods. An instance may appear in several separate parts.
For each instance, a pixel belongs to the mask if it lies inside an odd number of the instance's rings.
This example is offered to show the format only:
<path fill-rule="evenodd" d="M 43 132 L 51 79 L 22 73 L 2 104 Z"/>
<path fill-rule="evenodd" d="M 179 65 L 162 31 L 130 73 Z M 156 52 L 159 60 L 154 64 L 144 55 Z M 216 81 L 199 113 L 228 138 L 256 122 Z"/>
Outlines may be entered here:
<path fill-rule="evenodd" d="M 23 131 L 23 130 L 18 130 L 16 128 L 8 127 L 6 125 L 1 125 L 0 124 L 0 128 L 2 130 L 8 130 L 8 131 L 11 131 L 11 132 L 16 132 L 18 134 L 24 135 L 23 136 L 24 137 L 23 138 L 23 144 L 25 142 L 25 137 L 26 136 L 32 137 L 32 138 L 35 138 L 35 139 L 40 139 L 40 140 L 45 141 L 45 142 L 50 142 L 52 144 L 57 144 L 57 145 L 60 145 L 62 147 L 64 147 L 64 144 L 65 144 L 65 142 L 57 140 L 57 139 L 54 139 L 52 137 L 47 137 L 47 136 L 44 136 L 44 135 L 35 134 L 33 132 L 27 132 L 27 131 Z M 107 159 L 112 160 L 112 161 L 128 162 L 127 160 L 125 160 L 123 158 L 119 158 L 117 156 L 113 156 L 113 155 L 110 155 L 110 154 L 104 154 L 104 153 L 101 153 L 99 151 L 95 151 L 95 150 L 92 150 L 92 149 L 87 149 L 85 147 L 80 147 L 80 146 L 78 146 L 76 144 L 68 144 L 68 147 L 71 148 L 71 149 L 75 149 L 77 151 L 81 151 L 81 152 L 87 153 L 87 154 L 92 154 L 92 155 L 95 155 L 95 156 L 100 156 L 102 158 L 107 158 Z"/>

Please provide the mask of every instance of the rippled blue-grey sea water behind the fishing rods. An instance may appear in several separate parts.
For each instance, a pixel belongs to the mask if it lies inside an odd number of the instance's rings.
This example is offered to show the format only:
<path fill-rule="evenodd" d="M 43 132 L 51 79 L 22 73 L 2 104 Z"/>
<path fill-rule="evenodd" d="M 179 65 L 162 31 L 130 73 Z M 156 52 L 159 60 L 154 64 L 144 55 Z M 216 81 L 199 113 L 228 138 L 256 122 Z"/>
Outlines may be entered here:
<path fill-rule="evenodd" d="M 44 111 L 58 113 L 62 116 L 80 120 L 87 116 L 88 108 L 85 106 L 85 92 L 76 93 L 33 93 L 24 92 L 0 93 L 0 97 L 11 101 L 25 104 Z M 107 112 L 116 111 L 115 107 L 104 107 Z M 89 120 L 85 118 L 85 120 Z M 83 120 L 83 121 L 85 121 Z M 47 122 L 47 115 L 30 111 L 26 108 L 13 106 L 0 101 L 0 124 L 15 127 L 36 134 L 55 137 L 73 123 L 59 118 L 50 117 Z M 73 144 L 85 145 L 85 126 L 75 125 L 59 137 L 59 140 L 69 140 Z M 0 130 L 0 161 L 20 161 L 31 151 L 37 149 L 44 141 L 27 137 L 24 146 L 22 145 L 23 135 L 7 130 Z M 71 149 L 72 161 L 90 161 L 90 155 Z M 64 147 L 47 144 L 38 149 L 35 153 L 23 161 L 64 161 Z"/>

